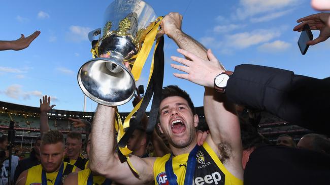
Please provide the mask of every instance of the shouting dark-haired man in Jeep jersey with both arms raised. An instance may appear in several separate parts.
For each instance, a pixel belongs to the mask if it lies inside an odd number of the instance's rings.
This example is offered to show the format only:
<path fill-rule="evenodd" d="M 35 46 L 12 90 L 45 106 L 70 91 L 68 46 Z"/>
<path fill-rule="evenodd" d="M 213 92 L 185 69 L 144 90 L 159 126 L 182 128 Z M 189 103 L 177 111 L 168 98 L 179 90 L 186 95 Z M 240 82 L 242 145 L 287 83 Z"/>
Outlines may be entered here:
<path fill-rule="evenodd" d="M 170 13 L 161 22 L 163 32 L 180 48 L 207 59 L 203 45 L 182 32 L 181 21 L 181 15 Z M 177 86 L 163 88 L 158 125 L 172 154 L 142 159 L 131 155 L 138 176 L 115 152 L 115 112 L 114 107 L 97 106 L 91 131 L 92 171 L 121 184 L 243 184 L 239 119 L 235 106 L 214 88 L 205 87 L 204 112 L 211 133 L 202 147 L 197 146 L 199 119 L 189 95 Z"/>

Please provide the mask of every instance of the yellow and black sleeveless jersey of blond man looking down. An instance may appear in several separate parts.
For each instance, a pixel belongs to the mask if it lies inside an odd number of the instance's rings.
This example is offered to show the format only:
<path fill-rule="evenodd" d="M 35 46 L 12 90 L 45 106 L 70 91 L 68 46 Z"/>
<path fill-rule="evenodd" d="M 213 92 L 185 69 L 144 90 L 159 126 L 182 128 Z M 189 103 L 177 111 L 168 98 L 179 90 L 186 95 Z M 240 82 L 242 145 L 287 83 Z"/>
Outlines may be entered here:
<path fill-rule="evenodd" d="M 66 170 L 66 169 L 71 168 L 71 170 Z M 41 173 L 42 173 L 42 166 L 41 164 L 31 167 L 27 171 L 27 177 L 26 177 L 26 182 L 25 185 L 30 185 L 30 184 L 41 184 Z M 72 165 L 70 163 L 64 162 L 64 168 L 63 168 L 63 174 L 62 174 L 62 183 L 64 182 L 65 178 L 69 175 L 69 173 L 73 172 L 76 170 L 76 166 Z M 58 171 L 53 172 L 53 173 L 46 173 L 47 177 L 47 185 L 53 185 L 55 183 L 55 179 L 57 176 Z M 43 184 L 44 185 L 44 184 Z"/>

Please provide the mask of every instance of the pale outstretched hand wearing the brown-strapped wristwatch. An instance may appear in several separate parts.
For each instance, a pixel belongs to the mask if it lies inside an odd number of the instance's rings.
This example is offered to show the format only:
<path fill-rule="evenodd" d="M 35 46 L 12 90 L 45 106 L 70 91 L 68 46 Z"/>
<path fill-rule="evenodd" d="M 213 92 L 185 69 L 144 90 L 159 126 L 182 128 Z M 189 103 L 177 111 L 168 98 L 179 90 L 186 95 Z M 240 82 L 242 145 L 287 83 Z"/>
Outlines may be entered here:
<path fill-rule="evenodd" d="M 171 67 L 187 73 L 173 73 L 173 75 L 205 87 L 213 88 L 214 78 L 218 74 L 224 72 L 224 68 L 221 66 L 218 59 L 212 54 L 212 51 L 207 51 L 209 60 L 203 60 L 202 58 L 182 49 L 178 49 L 177 51 L 190 60 L 172 56 L 171 59 L 173 61 L 179 62 L 183 65 L 171 64 Z"/>

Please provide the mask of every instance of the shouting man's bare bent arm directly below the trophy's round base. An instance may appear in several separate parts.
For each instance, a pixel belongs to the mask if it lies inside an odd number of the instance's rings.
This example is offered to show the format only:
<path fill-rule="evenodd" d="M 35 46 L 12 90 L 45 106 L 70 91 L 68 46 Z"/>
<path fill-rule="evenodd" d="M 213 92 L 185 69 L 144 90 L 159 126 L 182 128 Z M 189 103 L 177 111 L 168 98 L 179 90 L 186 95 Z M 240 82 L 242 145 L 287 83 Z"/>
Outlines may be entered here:
<path fill-rule="evenodd" d="M 122 184 L 144 184 L 153 181 L 154 158 L 130 155 L 133 166 L 139 171 L 136 177 L 127 162 L 121 163 L 115 153 L 115 108 L 98 105 L 91 131 L 89 167 L 92 171 Z"/>

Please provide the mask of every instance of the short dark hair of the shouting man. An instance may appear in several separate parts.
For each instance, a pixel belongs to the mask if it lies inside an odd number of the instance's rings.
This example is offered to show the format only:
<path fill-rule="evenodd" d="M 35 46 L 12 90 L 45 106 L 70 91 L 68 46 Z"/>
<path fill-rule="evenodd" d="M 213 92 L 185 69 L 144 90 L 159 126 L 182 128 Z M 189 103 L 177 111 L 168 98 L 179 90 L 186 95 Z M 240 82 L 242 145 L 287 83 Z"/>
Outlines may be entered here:
<path fill-rule="evenodd" d="M 192 114 L 195 115 L 195 107 L 193 106 L 189 94 L 187 94 L 186 91 L 182 90 L 177 85 L 168 85 L 166 87 L 163 87 L 161 91 L 160 101 L 163 101 L 168 97 L 176 97 L 176 96 L 185 99 L 188 102 L 188 106 L 191 109 Z"/>

